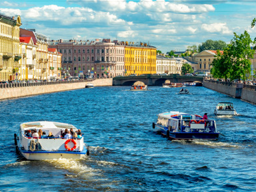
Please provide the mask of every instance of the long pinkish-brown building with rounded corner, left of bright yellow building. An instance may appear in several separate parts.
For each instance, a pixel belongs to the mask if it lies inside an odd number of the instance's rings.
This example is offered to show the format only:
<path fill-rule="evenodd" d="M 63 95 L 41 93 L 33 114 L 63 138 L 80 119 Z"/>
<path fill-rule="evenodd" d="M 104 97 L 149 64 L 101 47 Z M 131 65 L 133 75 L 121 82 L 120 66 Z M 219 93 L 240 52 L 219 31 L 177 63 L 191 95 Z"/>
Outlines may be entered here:
<path fill-rule="evenodd" d="M 63 76 L 114 77 L 124 74 L 125 48 L 110 39 L 51 41 L 49 48 L 63 54 Z"/>

